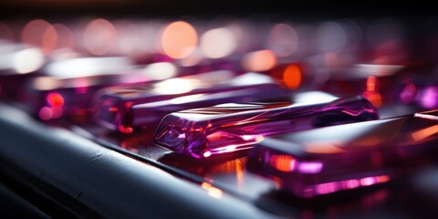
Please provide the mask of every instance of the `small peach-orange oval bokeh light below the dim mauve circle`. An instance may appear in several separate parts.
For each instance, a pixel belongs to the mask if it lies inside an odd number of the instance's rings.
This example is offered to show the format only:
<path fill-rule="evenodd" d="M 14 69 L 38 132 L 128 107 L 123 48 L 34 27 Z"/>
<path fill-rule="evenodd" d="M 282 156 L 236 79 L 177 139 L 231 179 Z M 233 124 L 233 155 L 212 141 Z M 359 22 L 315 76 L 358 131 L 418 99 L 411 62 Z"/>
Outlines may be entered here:
<path fill-rule="evenodd" d="M 248 71 L 266 71 L 275 65 L 276 56 L 271 50 L 250 52 L 242 58 L 242 67 Z"/>

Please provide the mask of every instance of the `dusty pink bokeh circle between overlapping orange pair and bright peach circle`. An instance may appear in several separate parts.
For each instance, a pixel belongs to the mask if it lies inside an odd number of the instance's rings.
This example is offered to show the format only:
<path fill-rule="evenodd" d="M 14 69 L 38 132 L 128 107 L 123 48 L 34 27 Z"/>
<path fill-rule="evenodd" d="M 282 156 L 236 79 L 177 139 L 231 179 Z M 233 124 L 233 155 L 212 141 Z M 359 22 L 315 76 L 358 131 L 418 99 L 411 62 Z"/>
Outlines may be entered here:
<path fill-rule="evenodd" d="M 84 30 L 84 44 L 93 55 L 110 52 L 116 42 L 116 29 L 110 21 L 99 18 L 91 21 Z"/>

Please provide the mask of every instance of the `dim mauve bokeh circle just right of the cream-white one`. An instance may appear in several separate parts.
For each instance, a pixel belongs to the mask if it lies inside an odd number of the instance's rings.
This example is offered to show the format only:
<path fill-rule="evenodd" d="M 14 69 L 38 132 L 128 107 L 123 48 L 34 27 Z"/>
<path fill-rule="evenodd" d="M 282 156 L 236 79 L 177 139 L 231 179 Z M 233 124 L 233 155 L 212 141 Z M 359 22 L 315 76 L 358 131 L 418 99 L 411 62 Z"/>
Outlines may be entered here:
<path fill-rule="evenodd" d="M 276 57 L 287 57 L 297 51 L 298 36 L 292 26 L 277 24 L 272 27 L 267 38 L 268 47 Z"/>

